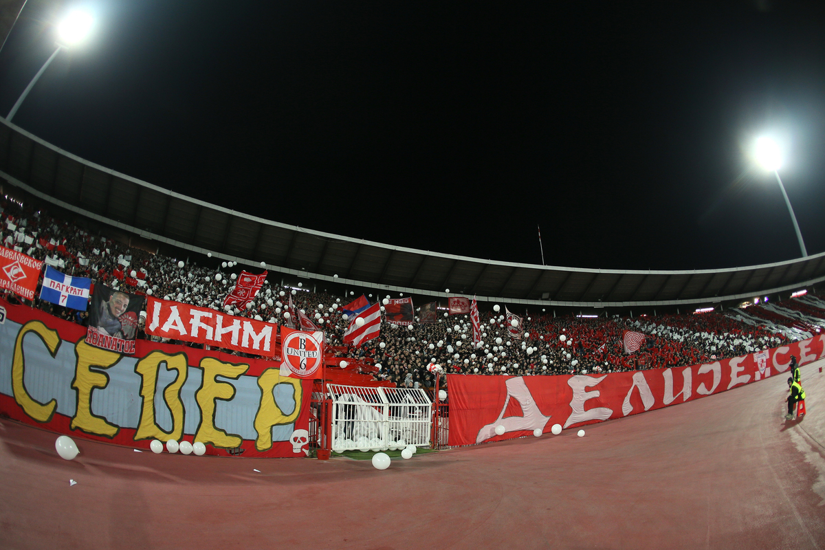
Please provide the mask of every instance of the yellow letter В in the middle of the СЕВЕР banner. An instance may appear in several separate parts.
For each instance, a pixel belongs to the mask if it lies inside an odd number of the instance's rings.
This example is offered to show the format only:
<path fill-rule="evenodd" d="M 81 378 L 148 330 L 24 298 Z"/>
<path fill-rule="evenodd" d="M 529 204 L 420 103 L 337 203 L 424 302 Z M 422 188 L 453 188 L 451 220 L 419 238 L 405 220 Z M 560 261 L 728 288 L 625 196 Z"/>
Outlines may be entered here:
<path fill-rule="evenodd" d="M 163 402 L 172 412 L 172 431 L 170 432 L 163 431 L 155 421 L 155 388 L 158 386 L 160 365 L 164 363 L 167 370 L 177 370 L 175 379 L 163 390 Z M 140 378 L 143 380 L 140 387 L 140 397 L 144 399 L 143 404 L 140 406 L 140 422 L 138 430 L 134 434 L 134 440 L 148 440 L 150 438 L 164 441 L 180 440 L 183 435 L 185 414 L 183 402 L 181 401 L 181 388 L 183 383 L 186 382 L 186 375 L 189 374 L 186 354 L 181 352 L 168 355 L 163 351 L 153 351 L 134 365 L 134 372 L 140 374 Z"/>

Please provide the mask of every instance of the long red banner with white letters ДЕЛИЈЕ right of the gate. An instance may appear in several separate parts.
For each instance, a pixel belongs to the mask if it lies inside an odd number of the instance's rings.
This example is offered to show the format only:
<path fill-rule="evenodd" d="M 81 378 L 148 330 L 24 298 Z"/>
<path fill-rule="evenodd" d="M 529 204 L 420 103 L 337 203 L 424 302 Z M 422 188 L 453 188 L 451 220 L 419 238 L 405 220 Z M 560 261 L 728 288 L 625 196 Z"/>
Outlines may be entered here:
<path fill-rule="evenodd" d="M 622 418 L 682 403 L 825 358 L 825 335 L 733 359 L 601 376 L 447 374 L 450 445 L 476 444 Z M 498 425 L 504 435 L 496 435 Z"/>

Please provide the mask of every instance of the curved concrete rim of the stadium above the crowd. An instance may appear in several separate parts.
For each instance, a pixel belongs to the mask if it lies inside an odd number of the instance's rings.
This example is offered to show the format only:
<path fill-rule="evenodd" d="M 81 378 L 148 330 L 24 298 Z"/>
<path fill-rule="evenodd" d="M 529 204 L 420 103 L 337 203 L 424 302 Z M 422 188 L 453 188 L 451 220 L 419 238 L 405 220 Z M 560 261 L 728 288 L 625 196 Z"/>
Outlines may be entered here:
<path fill-rule="evenodd" d="M 0 119 L 0 177 L 65 209 L 141 237 L 241 265 L 410 294 L 589 307 L 752 299 L 825 280 L 825 253 L 718 270 L 594 270 L 394 247 L 222 208 L 87 162 Z M 793 244 L 793 243 L 790 243 Z M 335 278 L 337 275 L 337 278 Z"/>

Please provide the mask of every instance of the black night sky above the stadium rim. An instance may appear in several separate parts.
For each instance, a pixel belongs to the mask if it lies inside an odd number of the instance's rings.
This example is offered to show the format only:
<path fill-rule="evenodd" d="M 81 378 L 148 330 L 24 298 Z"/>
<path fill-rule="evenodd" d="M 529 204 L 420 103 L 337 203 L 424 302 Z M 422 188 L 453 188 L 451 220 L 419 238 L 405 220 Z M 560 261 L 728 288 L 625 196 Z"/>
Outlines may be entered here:
<path fill-rule="evenodd" d="M 0 112 L 74 2 L 28 0 Z M 78 2 L 13 120 L 282 223 L 501 261 L 706 269 L 825 251 L 825 2 Z"/>

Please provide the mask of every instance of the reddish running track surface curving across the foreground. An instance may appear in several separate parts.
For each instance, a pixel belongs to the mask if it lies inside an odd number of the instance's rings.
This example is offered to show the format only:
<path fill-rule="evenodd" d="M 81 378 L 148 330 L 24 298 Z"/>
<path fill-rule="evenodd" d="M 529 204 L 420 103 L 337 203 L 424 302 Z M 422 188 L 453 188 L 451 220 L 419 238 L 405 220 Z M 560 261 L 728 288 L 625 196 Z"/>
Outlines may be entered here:
<path fill-rule="evenodd" d="M 825 548 L 821 366 L 802 368 L 802 421 L 783 418 L 783 374 L 582 438 L 453 449 L 383 472 L 79 439 L 65 461 L 56 435 L 0 421 L 0 548 Z"/>

